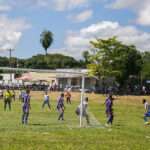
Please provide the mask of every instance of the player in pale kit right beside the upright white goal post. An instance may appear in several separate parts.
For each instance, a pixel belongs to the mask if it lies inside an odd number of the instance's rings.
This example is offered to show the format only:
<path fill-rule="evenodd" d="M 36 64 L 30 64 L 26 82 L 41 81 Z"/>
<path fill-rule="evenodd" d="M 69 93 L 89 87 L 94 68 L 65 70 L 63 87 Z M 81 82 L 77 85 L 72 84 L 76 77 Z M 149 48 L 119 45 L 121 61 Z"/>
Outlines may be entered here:
<path fill-rule="evenodd" d="M 82 116 L 85 117 L 87 124 L 90 124 L 90 120 L 89 120 L 89 115 L 87 112 L 87 108 L 88 108 L 88 97 L 85 97 L 83 104 L 80 104 L 77 109 L 76 109 L 76 114 L 78 116 L 81 115 L 81 106 L 82 106 Z"/>

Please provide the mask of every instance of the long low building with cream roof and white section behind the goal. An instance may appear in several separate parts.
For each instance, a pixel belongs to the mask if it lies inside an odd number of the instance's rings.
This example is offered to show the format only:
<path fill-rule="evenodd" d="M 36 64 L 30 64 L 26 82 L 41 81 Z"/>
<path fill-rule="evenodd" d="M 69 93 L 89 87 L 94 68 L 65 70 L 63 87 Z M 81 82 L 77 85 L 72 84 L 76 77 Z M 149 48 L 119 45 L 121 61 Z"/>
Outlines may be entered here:
<path fill-rule="evenodd" d="M 59 72 L 59 73 L 57 73 Z M 74 73 L 70 73 L 74 72 Z M 77 73 L 75 73 L 77 72 Z M 43 73 L 43 72 L 29 72 L 24 73 L 17 80 L 25 82 L 40 82 L 47 81 L 50 85 L 56 84 L 59 89 L 64 89 L 66 87 L 78 87 L 81 88 L 82 75 L 78 73 L 88 73 L 87 69 L 56 69 L 53 73 Z M 97 79 L 95 77 L 85 77 L 85 88 L 94 88 Z"/>

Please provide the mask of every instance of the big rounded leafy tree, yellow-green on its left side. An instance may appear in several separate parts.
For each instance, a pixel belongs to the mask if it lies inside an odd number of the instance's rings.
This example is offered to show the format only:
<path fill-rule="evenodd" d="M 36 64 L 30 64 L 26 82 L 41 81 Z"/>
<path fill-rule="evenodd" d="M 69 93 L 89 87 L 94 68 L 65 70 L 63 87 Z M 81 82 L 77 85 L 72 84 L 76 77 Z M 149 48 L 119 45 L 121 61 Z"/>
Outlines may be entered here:
<path fill-rule="evenodd" d="M 115 77 L 123 84 L 130 75 L 138 76 L 142 68 L 142 57 L 135 46 L 122 44 L 116 37 L 90 42 L 88 68 L 99 78 Z"/>

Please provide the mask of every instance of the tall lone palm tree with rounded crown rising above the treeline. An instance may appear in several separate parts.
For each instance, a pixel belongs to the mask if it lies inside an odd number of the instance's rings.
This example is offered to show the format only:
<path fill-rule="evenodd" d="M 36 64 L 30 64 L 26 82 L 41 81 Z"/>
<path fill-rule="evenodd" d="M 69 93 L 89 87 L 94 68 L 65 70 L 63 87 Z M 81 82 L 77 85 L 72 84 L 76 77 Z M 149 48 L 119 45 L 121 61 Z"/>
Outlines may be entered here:
<path fill-rule="evenodd" d="M 48 30 L 44 30 L 40 35 L 40 42 L 45 50 L 45 54 L 47 55 L 47 49 L 53 43 L 53 33 Z"/>

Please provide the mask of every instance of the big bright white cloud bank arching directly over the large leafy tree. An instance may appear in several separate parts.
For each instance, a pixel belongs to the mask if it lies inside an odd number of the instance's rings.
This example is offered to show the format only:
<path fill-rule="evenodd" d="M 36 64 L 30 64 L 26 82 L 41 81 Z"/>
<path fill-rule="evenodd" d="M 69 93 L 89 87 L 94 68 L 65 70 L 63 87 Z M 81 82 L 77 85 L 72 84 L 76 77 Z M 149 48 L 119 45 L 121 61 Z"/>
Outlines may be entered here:
<path fill-rule="evenodd" d="M 81 57 L 84 50 L 90 48 L 89 41 L 95 38 L 107 39 L 117 36 L 125 44 L 134 44 L 139 50 L 150 50 L 150 33 L 138 30 L 134 26 L 122 26 L 118 22 L 102 21 L 82 28 L 78 32 L 69 32 L 65 46 L 68 54 Z"/>

